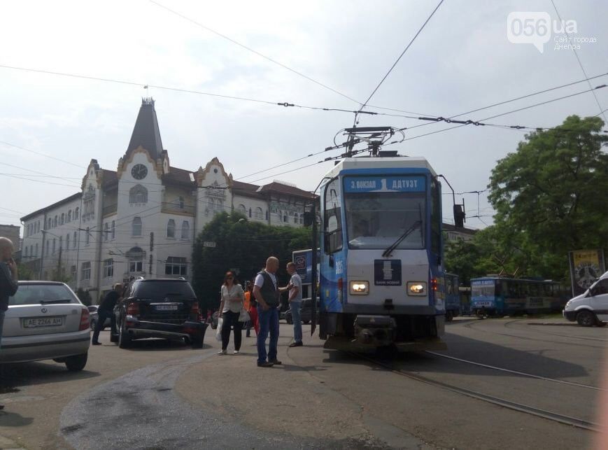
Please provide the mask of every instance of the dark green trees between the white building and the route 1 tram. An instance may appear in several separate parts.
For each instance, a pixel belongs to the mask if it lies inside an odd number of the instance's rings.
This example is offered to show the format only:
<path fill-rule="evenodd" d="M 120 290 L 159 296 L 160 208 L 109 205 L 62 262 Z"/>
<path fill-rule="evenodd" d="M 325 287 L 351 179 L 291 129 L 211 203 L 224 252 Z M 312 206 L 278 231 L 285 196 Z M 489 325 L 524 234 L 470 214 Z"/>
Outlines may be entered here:
<path fill-rule="evenodd" d="M 215 242 L 215 247 L 204 246 L 205 242 Z M 292 251 L 303 248 L 311 248 L 309 228 L 271 227 L 249 222 L 236 212 L 218 214 L 197 236 L 192 251 L 192 287 L 201 307 L 219 306 L 220 286 L 227 270 L 234 270 L 244 285 L 264 268 L 269 256 L 278 258 L 278 280 L 286 284 L 285 264 L 292 260 Z"/>

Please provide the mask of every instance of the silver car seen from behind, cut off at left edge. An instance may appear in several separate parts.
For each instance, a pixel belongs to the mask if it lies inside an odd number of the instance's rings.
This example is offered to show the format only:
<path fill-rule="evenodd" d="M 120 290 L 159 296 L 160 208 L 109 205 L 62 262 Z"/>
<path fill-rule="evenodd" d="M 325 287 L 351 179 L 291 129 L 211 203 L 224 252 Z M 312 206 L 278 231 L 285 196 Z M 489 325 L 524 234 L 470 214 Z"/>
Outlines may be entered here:
<path fill-rule="evenodd" d="M 20 281 L 4 316 L 0 363 L 52 359 L 83 370 L 89 327 L 89 310 L 64 283 Z"/>

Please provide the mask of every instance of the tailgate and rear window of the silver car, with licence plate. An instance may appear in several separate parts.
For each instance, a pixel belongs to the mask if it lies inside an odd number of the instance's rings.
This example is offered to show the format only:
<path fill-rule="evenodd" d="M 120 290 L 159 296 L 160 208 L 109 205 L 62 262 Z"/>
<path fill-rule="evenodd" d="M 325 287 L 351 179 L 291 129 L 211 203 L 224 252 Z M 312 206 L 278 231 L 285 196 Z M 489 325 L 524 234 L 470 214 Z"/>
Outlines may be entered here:
<path fill-rule="evenodd" d="M 78 331 L 83 306 L 63 283 L 19 283 L 8 299 L 3 337 Z"/>

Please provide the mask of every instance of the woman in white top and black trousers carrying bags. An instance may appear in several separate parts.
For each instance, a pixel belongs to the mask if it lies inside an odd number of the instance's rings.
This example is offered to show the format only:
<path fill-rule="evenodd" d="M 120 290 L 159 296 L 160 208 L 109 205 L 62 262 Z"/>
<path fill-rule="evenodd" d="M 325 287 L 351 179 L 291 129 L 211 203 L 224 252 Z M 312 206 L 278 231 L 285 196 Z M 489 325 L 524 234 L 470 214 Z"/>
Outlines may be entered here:
<path fill-rule="evenodd" d="M 236 282 L 234 272 L 229 270 L 224 276 L 222 284 L 222 302 L 220 303 L 220 314 L 222 318 L 222 349 L 218 355 L 225 355 L 230 342 L 230 328 L 234 326 L 234 354 L 241 349 L 241 330 L 243 323 L 239 322 L 239 315 L 245 301 L 243 288 Z"/>

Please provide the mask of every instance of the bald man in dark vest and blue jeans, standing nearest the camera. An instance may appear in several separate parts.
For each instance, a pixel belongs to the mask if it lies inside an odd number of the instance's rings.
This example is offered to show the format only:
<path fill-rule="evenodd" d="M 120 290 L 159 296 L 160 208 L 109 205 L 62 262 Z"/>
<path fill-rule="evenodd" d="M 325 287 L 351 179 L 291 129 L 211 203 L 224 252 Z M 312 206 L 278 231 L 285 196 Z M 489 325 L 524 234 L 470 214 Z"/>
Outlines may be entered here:
<path fill-rule="evenodd" d="M 266 260 L 266 267 L 255 277 L 253 296 L 257 300 L 257 320 L 260 332 L 257 333 L 257 367 L 272 367 L 281 364 L 276 359 L 278 344 L 278 303 L 281 293 L 278 292 L 276 271 L 278 259 L 271 256 Z M 266 338 L 270 332 L 270 344 L 266 353 Z M 268 357 L 268 360 L 266 359 Z"/>

